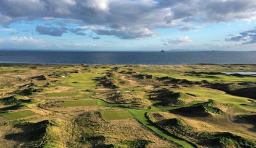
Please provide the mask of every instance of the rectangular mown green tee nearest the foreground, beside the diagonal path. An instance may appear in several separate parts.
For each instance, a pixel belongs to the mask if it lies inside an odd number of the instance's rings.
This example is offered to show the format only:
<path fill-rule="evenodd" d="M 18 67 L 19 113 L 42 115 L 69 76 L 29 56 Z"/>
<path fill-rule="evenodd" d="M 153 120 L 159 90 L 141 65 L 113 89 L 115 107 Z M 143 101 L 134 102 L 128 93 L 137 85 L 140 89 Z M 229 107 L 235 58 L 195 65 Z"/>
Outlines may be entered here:
<path fill-rule="evenodd" d="M 102 111 L 101 116 L 104 120 L 133 118 L 133 115 L 131 115 L 127 110 Z"/>

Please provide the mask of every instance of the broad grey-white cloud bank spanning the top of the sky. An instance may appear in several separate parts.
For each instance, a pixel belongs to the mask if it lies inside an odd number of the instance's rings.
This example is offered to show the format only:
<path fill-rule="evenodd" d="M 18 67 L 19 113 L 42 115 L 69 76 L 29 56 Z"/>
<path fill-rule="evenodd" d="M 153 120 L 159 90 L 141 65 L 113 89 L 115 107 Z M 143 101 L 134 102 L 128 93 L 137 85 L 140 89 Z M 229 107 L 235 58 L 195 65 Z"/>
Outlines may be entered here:
<path fill-rule="evenodd" d="M 0 23 L 19 20 L 62 19 L 80 25 L 99 25 L 102 35 L 121 39 L 152 36 L 156 28 L 193 28 L 193 22 L 211 23 L 255 20 L 255 0 L 1 0 Z M 111 29 L 110 29 L 111 28 Z M 149 30 L 146 35 L 136 30 Z M 43 33 L 61 36 L 64 30 Z M 134 31 L 133 31 L 134 30 Z M 43 34 L 42 33 L 42 34 Z M 133 34 L 133 35 L 132 35 Z M 78 33 L 83 35 L 83 33 Z M 137 35 L 137 36 L 136 36 Z"/>

